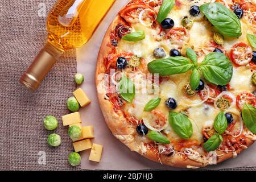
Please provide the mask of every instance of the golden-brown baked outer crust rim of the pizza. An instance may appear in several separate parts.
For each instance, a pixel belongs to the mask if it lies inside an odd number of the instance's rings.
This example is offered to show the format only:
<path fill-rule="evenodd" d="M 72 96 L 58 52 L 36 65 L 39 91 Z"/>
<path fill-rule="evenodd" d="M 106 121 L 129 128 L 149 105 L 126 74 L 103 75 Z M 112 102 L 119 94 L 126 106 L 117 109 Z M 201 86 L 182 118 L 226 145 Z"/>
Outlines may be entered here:
<path fill-rule="evenodd" d="M 98 53 L 97 59 L 97 67 L 96 67 L 96 86 L 100 85 L 102 81 L 99 79 L 101 73 L 105 73 L 105 65 L 104 65 L 104 57 L 107 57 L 112 50 L 110 48 L 110 33 L 115 28 L 116 24 L 121 22 L 121 17 L 117 15 L 117 17 L 113 20 L 112 24 L 110 24 L 104 39 L 101 44 L 100 51 Z M 105 100 L 105 93 L 97 92 L 98 94 L 98 101 L 102 110 L 102 114 L 104 115 L 106 124 L 108 125 L 109 129 L 112 131 L 113 135 L 118 138 L 123 144 L 130 148 L 131 151 L 137 151 L 139 154 L 143 155 L 145 158 L 153 160 L 155 162 L 159 162 L 162 164 L 166 164 L 168 166 L 173 167 L 181 167 L 181 168 L 199 168 L 208 166 L 208 163 L 201 163 L 195 160 L 191 160 L 185 158 L 184 156 L 174 153 L 171 156 L 167 155 L 156 155 L 152 154 L 150 150 L 147 150 L 142 154 L 141 150 L 138 150 L 138 143 L 135 141 L 134 135 L 136 130 L 132 123 L 127 122 L 127 119 L 124 118 L 122 115 L 118 115 L 113 111 L 113 105 L 108 101 Z M 118 136 L 129 136 L 129 139 L 121 138 Z M 246 146 L 249 147 L 251 144 L 254 143 L 253 139 L 246 138 Z M 236 153 L 240 154 L 245 148 L 240 148 L 237 150 Z M 233 157 L 232 152 L 223 152 L 218 151 L 218 159 L 217 163 L 223 162 L 224 160 L 230 159 Z"/>

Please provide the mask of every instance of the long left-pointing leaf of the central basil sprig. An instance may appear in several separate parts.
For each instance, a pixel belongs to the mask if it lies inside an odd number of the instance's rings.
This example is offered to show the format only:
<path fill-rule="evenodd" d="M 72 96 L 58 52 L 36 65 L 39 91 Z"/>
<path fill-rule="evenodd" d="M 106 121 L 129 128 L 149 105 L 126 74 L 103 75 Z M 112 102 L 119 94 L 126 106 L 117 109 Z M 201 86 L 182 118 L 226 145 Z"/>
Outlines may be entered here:
<path fill-rule="evenodd" d="M 147 69 L 150 73 L 158 73 L 160 76 L 185 73 L 193 67 L 194 65 L 187 59 L 187 57 L 179 56 L 154 60 L 147 65 Z"/>

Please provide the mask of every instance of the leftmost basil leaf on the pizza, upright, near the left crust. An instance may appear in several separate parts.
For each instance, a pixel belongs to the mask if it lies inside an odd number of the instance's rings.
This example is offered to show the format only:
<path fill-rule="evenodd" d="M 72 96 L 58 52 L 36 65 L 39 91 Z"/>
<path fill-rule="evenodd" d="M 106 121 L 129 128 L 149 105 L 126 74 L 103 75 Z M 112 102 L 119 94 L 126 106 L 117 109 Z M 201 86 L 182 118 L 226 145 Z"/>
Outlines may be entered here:
<path fill-rule="evenodd" d="M 135 97 L 135 85 L 126 76 L 123 76 L 119 82 L 119 91 L 121 92 L 121 96 L 124 100 L 133 102 Z"/>

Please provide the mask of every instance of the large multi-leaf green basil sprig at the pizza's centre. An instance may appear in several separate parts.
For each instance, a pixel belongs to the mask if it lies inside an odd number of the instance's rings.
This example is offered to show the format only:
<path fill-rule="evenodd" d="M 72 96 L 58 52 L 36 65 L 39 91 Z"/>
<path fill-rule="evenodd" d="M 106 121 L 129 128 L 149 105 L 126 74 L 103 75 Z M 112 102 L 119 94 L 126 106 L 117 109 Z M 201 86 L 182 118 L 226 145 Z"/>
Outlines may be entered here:
<path fill-rule="evenodd" d="M 204 61 L 199 67 L 192 64 L 187 57 L 168 57 L 166 59 L 158 59 L 151 61 L 147 65 L 150 73 L 158 73 L 159 76 L 175 75 L 185 73 L 191 69 L 200 69 L 204 78 L 216 85 L 226 85 L 233 76 L 233 65 L 223 53 L 211 52 L 205 56 Z M 193 71 L 191 82 L 198 84 L 199 73 Z M 197 85 L 198 86 L 198 85 Z"/>

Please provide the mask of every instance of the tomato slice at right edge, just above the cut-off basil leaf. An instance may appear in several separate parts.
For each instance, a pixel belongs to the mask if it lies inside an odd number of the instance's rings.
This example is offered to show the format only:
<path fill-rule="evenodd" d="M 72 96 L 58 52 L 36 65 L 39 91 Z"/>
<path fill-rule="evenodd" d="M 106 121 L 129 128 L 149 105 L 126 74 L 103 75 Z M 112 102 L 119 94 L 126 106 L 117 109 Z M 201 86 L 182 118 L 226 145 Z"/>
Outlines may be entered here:
<path fill-rule="evenodd" d="M 254 107 L 256 106 L 256 97 L 253 93 L 250 92 L 242 92 L 237 96 L 237 107 L 242 110 L 244 104 L 250 104 Z"/>

